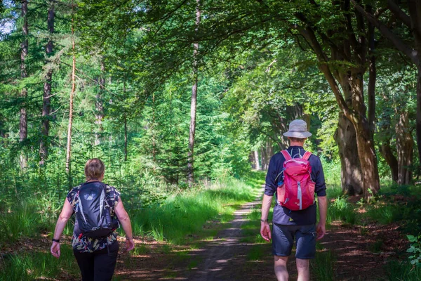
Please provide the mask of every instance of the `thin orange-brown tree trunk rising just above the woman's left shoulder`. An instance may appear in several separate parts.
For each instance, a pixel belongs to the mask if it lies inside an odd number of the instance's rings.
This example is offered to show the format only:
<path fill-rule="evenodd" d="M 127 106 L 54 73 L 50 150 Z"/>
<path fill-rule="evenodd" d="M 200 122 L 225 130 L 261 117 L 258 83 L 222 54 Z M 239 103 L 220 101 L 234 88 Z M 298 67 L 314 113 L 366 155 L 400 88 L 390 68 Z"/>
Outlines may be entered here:
<path fill-rule="evenodd" d="M 73 11 L 73 3 L 72 3 Z M 72 18 L 72 51 L 73 51 L 73 63 L 72 63 L 72 91 L 70 91 L 70 101 L 69 101 L 69 126 L 67 127 L 67 153 L 66 153 L 66 173 L 69 178 L 69 186 L 72 186 L 72 176 L 70 172 L 72 171 L 71 165 L 71 156 L 72 156 L 72 122 L 73 122 L 73 97 L 74 92 L 76 91 L 76 81 L 75 81 L 75 72 L 76 72 L 76 53 L 74 49 L 74 27 L 73 27 L 73 18 Z"/>

